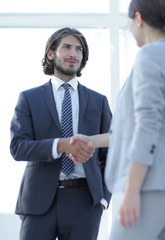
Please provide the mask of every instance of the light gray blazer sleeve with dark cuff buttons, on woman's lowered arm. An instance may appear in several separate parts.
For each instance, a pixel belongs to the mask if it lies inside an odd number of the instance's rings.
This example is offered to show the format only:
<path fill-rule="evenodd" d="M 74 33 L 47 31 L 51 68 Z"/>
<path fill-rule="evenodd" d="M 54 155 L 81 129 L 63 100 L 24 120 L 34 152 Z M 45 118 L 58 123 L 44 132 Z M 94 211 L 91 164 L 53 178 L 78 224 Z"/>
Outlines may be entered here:
<path fill-rule="evenodd" d="M 132 81 L 134 131 L 128 158 L 152 165 L 165 108 L 165 66 L 158 46 L 141 49 L 135 61 Z"/>

